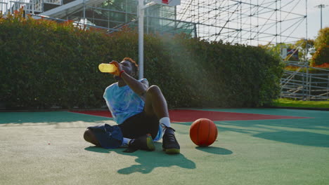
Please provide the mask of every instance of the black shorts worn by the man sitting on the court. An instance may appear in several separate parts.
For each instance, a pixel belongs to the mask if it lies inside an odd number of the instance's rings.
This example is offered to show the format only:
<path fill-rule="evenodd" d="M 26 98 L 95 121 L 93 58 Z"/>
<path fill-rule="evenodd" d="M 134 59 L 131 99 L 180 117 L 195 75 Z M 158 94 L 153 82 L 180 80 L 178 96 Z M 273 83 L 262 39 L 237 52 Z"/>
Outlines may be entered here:
<path fill-rule="evenodd" d="M 159 131 L 159 120 L 157 116 L 148 116 L 144 112 L 141 112 L 127 118 L 127 120 L 118 126 L 122 131 L 123 137 L 134 139 L 150 133 L 154 139 Z"/>

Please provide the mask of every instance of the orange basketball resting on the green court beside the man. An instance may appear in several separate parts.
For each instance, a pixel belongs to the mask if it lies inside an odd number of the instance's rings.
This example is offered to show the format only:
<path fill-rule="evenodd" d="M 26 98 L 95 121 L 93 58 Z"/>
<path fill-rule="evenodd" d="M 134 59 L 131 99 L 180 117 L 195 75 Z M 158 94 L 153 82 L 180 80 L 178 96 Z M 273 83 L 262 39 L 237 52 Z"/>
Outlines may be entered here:
<path fill-rule="evenodd" d="M 209 146 L 217 138 L 217 127 L 211 120 L 200 118 L 194 121 L 190 128 L 190 137 L 198 146 Z"/>

